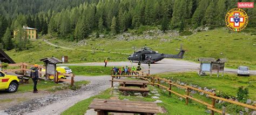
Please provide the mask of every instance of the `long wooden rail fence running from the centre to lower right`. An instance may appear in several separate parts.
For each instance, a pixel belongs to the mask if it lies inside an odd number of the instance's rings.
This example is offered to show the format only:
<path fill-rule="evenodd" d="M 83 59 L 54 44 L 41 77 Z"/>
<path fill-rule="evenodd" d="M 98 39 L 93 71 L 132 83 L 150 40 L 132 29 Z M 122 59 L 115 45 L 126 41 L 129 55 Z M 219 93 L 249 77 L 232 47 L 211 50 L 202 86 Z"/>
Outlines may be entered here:
<path fill-rule="evenodd" d="M 222 100 L 224 102 L 228 102 L 228 103 L 231 103 L 231 104 L 247 107 L 248 109 L 256 110 L 256 106 L 248 105 L 248 104 L 244 104 L 244 103 L 240 103 L 240 102 L 236 102 L 236 101 L 233 101 L 233 100 L 228 100 L 228 99 L 221 98 L 221 97 L 217 97 L 215 93 L 204 91 L 204 90 L 200 90 L 200 89 L 197 89 L 196 87 L 192 87 L 192 86 L 188 86 L 188 85 L 179 85 L 179 84 L 176 84 L 176 83 L 172 83 L 171 80 L 168 80 L 168 79 L 165 79 L 165 78 L 160 78 L 159 76 L 112 76 L 112 80 L 113 80 L 114 77 L 139 77 L 139 78 L 142 78 L 144 80 L 149 80 L 151 85 L 153 85 L 153 86 L 156 85 L 159 88 L 162 87 L 163 89 L 169 91 L 169 95 L 171 95 L 173 93 L 173 94 L 176 94 L 177 96 L 179 96 L 181 98 L 185 98 L 186 99 L 186 105 L 188 104 L 188 99 L 192 99 L 192 100 L 194 100 L 194 101 L 196 101 L 198 103 L 206 105 L 207 109 L 211 110 L 211 114 L 214 114 L 214 112 L 218 112 L 218 113 L 221 113 L 221 114 L 227 114 L 227 113 L 225 113 L 225 111 L 221 111 L 221 110 L 215 109 L 216 99 Z M 163 84 L 160 84 L 161 80 L 163 80 L 164 83 L 168 84 L 169 86 L 165 86 Z M 112 83 L 112 85 L 113 85 L 113 83 Z M 173 91 L 172 90 L 173 86 L 180 87 L 181 89 L 185 89 L 186 90 L 186 94 L 180 94 L 178 92 Z M 204 102 L 203 100 L 199 100 L 199 99 L 196 99 L 196 98 L 190 96 L 190 91 L 191 90 L 195 90 L 195 91 L 198 91 L 198 92 L 203 92 L 205 94 L 208 94 L 208 97 L 211 98 L 212 103 L 209 104 L 207 102 Z"/>

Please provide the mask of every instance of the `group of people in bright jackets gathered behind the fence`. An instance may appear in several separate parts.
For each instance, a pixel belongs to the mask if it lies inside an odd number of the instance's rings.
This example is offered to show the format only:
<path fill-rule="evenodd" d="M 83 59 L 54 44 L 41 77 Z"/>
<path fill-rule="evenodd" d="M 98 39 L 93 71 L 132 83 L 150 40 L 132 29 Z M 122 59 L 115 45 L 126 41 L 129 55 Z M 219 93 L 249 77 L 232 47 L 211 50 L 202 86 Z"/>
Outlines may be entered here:
<path fill-rule="evenodd" d="M 113 75 L 137 75 L 138 72 L 136 71 L 140 71 L 142 70 L 142 68 L 140 67 L 140 62 L 138 63 L 138 66 L 123 66 L 121 68 L 117 68 L 115 66 L 113 66 L 113 69 L 112 69 L 112 73 Z"/>

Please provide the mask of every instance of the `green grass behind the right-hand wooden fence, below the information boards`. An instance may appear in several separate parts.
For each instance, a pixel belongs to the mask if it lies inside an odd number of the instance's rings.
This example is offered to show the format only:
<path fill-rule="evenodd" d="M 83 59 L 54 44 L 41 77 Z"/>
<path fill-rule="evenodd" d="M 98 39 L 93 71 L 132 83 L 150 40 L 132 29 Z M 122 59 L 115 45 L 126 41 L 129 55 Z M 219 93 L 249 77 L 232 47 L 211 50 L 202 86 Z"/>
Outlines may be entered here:
<path fill-rule="evenodd" d="M 160 75 L 163 78 L 179 80 L 188 84 L 208 87 L 211 89 L 217 89 L 219 92 L 226 93 L 235 97 L 238 87 L 244 86 L 249 90 L 249 98 L 256 99 L 256 76 L 244 77 L 236 76 L 234 74 L 225 73 L 224 77 L 210 76 L 198 76 L 196 72 L 178 72 L 178 73 L 164 73 Z M 218 92 L 217 92 L 218 94 Z"/>

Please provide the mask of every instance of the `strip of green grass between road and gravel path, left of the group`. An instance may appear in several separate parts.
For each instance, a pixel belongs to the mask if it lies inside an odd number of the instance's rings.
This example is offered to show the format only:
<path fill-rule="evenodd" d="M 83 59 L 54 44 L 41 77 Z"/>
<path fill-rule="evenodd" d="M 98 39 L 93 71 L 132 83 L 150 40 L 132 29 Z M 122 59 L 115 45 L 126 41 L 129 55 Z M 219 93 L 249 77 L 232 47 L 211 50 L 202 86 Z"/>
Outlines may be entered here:
<path fill-rule="evenodd" d="M 112 67 L 107 66 L 69 66 L 75 75 L 102 76 L 110 75 Z"/>

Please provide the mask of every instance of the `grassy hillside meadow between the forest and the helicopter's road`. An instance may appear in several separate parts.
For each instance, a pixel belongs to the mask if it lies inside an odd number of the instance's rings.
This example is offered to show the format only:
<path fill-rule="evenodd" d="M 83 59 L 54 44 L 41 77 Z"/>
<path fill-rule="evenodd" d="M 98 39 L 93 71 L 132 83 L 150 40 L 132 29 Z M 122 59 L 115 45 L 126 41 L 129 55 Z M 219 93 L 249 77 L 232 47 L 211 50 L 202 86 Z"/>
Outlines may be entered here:
<path fill-rule="evenodd" d="M 250 32 L 230 32 L 224 28 L 197 32 L 190 36 L 169 37 L 169 35 L 164 35 L 156 39 L 130 41 L 113 39 L 113 36 L 104 39 L 88 38 L 85 46 L 77 46 L 76 42 L 61 39 L 49 40 L 53 44 L 75 48 L 76 50 L 61 49 L 50 46 L 43 41 L 31 41 L 32 46 L 29 50 L 21 52 L 10 50 L 6 53 L 16 62 L 40 63 L 39 59 L 51 56 L 57 58 L 69 56 L 70 63 L 103 62 L 105 58 L 109 58 L 111 62 L 127 60 L 127 55 L 84 50 L 132 53 L 133 46 L 141 48 L 147 45 L 160 53 L 177 54 L 180 44 L 183 44 L 183 48 L 187 50 L 184 55 L 185 60 L 197 62 L 199 57 L 227 58 L 226 67 L 237 68 L 240 65 L 245 65 L 252 70 L 256 70 L 256 58 L 254 58 L 256 50 L 255 35 L 251 35 Z"/>

